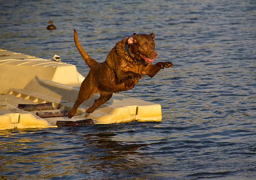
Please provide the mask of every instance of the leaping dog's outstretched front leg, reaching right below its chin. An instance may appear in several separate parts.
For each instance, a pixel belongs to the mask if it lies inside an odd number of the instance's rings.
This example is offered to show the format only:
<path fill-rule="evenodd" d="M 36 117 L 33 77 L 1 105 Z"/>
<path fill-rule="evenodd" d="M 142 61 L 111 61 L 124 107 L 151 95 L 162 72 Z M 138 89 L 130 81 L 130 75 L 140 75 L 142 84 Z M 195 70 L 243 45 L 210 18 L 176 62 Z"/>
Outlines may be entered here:
<path fill-rule="evenodd" d="M 149 77 L 154 77 L 154 75 L 157 74 L 157 72 L 161 69 L 164 68 L 169 68 L 172 67 L 173 64 L 172 62 L 157 62 L 155 65 L 148 64 L 144 69 L 143 69 L 143 74 L 148 75 Z"/>

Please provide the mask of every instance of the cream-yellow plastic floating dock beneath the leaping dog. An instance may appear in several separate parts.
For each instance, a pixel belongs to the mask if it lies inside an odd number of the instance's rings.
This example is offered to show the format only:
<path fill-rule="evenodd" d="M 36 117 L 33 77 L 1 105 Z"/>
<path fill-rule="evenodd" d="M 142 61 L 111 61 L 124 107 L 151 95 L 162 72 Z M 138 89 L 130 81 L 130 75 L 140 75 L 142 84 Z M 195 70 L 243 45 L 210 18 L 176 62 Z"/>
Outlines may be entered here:
<path fill-rule="evenodd" d="M 75 65 L 0 49 L 0 130 L 56 127 L 56 121 L 68 120 L 92 119 L 94 123 L 110 124 L 162 118 L 161 105 L 119 94 L 88 114 L 86 108 L 99 97 L 93 95 L 71 119 L 41 118 L 36 115 L 38 111 L 18 109 L 18 104 L 52 102 L 57 109 L 44 111 L 69 110 L 77 100 L 79 88 Z"/>

